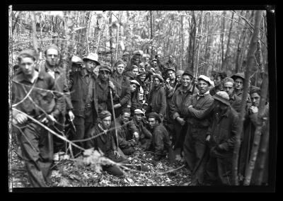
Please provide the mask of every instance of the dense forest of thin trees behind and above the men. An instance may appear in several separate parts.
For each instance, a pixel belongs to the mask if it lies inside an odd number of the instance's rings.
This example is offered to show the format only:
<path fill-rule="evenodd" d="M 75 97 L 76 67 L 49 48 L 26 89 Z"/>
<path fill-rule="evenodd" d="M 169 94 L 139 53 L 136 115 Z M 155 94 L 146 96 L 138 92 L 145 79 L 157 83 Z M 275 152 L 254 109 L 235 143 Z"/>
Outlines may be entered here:
<path fill-rule="evenodd" d="M 51 43 L 62 47 L 68 32 L 71 52 L 81 57 L 96 52 L 113 64 L 122 53 L 142 50 L 163 62 L 173 54 L 178 69 L 190 68 L 210 76 L 244 71 L 255 30 L 255 11 L 12 11 L 9 64 L 24 48 L 42 52 Z M 267 66 L 266 12 L 260 15 L 258 48 L 251 69 L 254 85 Z M 66 24 L 67 22 L 67 24 Z M 33 29 L 33 25 L 35 28 Z M 43 59 L 43 57 L 41 57 Z"/>

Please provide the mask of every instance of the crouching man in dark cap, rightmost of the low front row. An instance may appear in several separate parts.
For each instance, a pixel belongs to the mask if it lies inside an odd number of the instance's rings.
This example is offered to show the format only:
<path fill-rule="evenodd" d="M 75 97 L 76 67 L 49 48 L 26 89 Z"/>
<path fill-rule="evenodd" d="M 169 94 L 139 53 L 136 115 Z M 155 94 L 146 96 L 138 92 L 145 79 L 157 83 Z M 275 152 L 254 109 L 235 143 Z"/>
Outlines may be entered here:
<path fill-rule="evenodd" d="M 171 147 L 169 134 L 166 128 L 161 124 L 161 118 L 157 113 L 149 113 L 149 125 L 152 130 L 153 147 L 154 147 L 154 160 L 159 161 Z"/>

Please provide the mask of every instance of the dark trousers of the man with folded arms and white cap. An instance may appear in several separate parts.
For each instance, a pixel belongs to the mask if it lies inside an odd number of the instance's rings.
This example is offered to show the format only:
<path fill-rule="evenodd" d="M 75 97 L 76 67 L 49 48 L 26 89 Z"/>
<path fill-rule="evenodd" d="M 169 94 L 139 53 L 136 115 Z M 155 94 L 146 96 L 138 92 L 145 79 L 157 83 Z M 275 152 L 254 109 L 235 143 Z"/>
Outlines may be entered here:
<path fill-rule="evenodd" d="M 204 183 L 205 166 L 209 151 L 205 143 L 207 127 L 197 128 L 187 126 L 187 134 L 183 145 L 185 160 L 192 173 L 192 185 Z"/>

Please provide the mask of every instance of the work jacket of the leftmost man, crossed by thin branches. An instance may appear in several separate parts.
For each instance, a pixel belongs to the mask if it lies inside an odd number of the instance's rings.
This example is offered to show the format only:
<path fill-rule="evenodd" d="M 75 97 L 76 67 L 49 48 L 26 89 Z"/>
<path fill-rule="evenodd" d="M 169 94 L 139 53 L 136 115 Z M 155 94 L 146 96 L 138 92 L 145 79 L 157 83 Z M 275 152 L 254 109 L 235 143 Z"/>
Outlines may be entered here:
<path fill-rule="evenodd" d="M 12 103 L 16 104 L 22 101 L 32 87 L 33 84 L 25 79 L 23 72 L 19 72 L 13 77 Z M 41 89 L 54 91 L 54 93 Z M 44 114 L 42 113 L 42 110 L 44 110 L 48 115 L 52 113 L 55 118 L 58 118 L 60 113 L 63 112 L 62 108 L 64 108 L 64 96 L 62 96 L 61 93 L 56 92 L 54 79 L 52 79 L 52 76 L 47 74 L 45 71 L 39 72 L 38 77 L 34 82 L 34 88 L 28 97 L 30 97 L 34 103 L 30 101 L 29 98 L 25 98 L 25 100 L 16 105 L 15 108 L 21 110 L 27 115 L 30 115 L 31 117 L 35 117 L 37 119 L 37 117 Z M 38 107 L 35 104 L 37 104 Z M 40 110 L 39 107 L 42 110 Z M 18 114 L 15 110 L 13 110 L 12 113 L 14 117 Z M 43 117 L 40 118 L 40 120 L 42 119 Z"/>

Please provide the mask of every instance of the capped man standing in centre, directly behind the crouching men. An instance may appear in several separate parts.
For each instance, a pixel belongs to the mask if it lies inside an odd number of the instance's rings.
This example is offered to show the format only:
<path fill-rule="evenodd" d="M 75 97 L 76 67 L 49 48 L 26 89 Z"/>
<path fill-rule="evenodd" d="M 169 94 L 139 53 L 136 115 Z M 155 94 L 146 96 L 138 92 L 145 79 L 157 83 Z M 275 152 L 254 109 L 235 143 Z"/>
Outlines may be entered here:
<path fill-rule="evenodd" d="M 146 113 L 158 113 L 161 119 L 166 115 L 166 92 L 161 86 L 163 78 L 161 75 L 154 75 L 154 88 L 149 92 L 149 105 L 146 108 Z"/>

